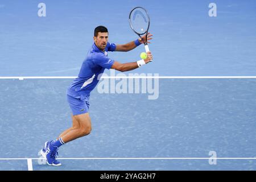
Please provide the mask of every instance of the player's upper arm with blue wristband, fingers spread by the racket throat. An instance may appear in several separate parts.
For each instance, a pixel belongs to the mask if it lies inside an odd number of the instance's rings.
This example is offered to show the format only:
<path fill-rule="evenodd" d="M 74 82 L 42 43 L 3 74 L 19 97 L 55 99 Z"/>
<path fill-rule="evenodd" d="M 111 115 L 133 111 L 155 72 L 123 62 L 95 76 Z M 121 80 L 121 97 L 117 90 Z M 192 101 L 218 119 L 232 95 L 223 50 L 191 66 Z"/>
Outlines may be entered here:
<path fill-rule="evenodd" d="M 151 40 L 153 36 L 152 34 L 148 33 L 147 34 L 147 40 Z M 115 48 L 115 51 L 122 51 L 122 52 L 127 52 L 133 50 L 135 47 L 141 45 L 142 43 L 146 43 L 146 35 L 144 35 L 142 38 L 139 38 L 133 42 L 129 42 L 127 44 L 119 44 Z M 147 41 L 147 43 L 150 43 Z"/>

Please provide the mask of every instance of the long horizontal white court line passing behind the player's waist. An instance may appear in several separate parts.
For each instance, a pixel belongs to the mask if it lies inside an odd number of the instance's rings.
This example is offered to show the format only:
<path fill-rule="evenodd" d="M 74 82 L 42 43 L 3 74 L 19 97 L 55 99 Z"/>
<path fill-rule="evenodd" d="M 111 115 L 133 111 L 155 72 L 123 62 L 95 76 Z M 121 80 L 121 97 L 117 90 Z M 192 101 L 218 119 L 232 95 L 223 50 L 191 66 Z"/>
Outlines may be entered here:
<path fill-rule="evenodd" d="M 0 77 L 0 79 L 72 79 L 76 78 L 76 76 L 11 76 L 11 77 Z M 159 79 L 250 79 L 256 78 L 256 76 L 102 76 L 101 79 L 104 78 L 159 78 Z"/>

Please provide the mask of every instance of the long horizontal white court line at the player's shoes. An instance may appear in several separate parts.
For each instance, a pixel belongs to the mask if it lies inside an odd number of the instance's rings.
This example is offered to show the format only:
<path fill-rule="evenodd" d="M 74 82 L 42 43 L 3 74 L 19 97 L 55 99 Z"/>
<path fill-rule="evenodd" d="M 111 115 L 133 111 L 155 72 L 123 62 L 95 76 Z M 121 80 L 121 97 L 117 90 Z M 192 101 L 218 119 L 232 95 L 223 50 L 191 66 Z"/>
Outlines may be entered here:
<path fill-rule="evenodd" d="M 200 159 L 225 159 L 225 160 L 256 160 L 255 158 L 58 158 L 60 160 L 200 160 Z M 42 158 L 0 158 L 0 160 L 42 160 Z"/>

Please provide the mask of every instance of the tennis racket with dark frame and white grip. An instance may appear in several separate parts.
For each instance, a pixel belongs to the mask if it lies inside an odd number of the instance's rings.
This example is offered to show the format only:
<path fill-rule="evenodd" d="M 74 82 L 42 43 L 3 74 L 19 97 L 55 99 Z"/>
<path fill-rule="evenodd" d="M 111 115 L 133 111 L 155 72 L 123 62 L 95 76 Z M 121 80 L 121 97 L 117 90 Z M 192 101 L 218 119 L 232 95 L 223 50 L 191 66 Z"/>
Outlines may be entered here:
<path fill-rule="evenodd" d="M 150 18 L 147 14 L 146 9 L 144 9 L 143 7 L 134 7 L 134 9 L 132 9 L 129 14 L 129 23 L 131 26 L 131 30 L 133 30 L 135 34 L 137 34 L 141 39 L 142 35 L 147 35 L 148 28 L 150 27 Z M 147 45 L 147 36 L 144 46 L 146 52 L 150 51 Z"/>

